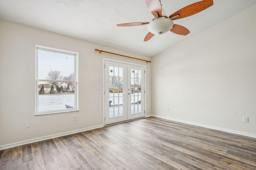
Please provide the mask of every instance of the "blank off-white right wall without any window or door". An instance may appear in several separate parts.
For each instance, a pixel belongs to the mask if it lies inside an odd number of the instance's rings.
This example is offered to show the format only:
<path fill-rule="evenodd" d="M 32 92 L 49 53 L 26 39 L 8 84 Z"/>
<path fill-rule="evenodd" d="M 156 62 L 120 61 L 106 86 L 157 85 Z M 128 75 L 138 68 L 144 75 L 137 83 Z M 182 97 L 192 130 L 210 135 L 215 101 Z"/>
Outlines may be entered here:
<path fill-rule="evenodd" d="M 152 114 L 256 137 L 255 16 L 256 5 L 153 57 Z"/>

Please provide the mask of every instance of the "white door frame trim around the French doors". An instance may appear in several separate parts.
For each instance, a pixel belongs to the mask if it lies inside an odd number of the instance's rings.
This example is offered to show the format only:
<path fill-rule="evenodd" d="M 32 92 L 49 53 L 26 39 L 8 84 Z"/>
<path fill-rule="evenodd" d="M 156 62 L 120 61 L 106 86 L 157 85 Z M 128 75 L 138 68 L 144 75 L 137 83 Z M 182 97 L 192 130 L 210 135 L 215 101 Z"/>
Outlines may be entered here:
<path fill-rule="evenodd" d="M 136 63 L 129 63 L 129 62 L 125 62 L 125 61 L 120 61 L 120 60 L 114 60 L 114 59 L 107 59 L 107 58 L 103 58 L 103 62 L 102 62 L 102 99 L 103 99 L 103 119 L 102 119 L 102 124 L 103 126 L 108 126 L 108 125 L 105 125 L 105 61 L 112 61 L 112 62 L 117 62 L 117 63 L 122 63 L 122 64 L 130 64 L 130 65 L 135 65 L 135 66 L 142 66 L 144 67 L 144 70 L 145 70 L 145 74 L 144 74 L 144 89 L 145 89 L 145 94 L 144 94 L 144 101 L 145 101 L 145 104 L 144 104 L 144 110 L 145 110 L 145 114 L 144 114 L 144 117 L 146 117 L 146 65 L 142 65 L 142 64 L 136 64 Z M 107 91 L 108 92 L 108 91 Z M 138 118 L 139 119 L 139 118 Z M 130 121 L 130 120 L 127 120 L 127 121 Z M 115 123 L 113 123 L 115 124 Z"/>

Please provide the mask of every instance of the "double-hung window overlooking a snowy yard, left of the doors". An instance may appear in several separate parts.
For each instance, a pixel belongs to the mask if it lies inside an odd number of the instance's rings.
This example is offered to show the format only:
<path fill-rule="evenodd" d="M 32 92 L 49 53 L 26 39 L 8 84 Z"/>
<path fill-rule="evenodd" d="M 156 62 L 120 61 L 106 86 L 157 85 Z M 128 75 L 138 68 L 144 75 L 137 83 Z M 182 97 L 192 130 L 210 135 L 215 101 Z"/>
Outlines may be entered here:
<path fill-rule="evenodd" d="M 78 53 L 36 46 L 36 115 L 78 110 Z"/>

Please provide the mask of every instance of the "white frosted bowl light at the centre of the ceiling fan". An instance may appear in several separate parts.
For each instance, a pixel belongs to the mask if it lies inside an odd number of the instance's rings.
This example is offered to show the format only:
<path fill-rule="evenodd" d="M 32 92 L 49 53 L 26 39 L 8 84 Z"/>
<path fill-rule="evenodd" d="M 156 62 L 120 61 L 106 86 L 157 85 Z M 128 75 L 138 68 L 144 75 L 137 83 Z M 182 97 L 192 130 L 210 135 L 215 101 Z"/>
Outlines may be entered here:
<path fill-rule="evenodd" d="M 173 21 L 167 17 L 154 18 L 148 23 L 148 31 L 155 35 L 161 35 L 170 31 L 173 24 Z"/>

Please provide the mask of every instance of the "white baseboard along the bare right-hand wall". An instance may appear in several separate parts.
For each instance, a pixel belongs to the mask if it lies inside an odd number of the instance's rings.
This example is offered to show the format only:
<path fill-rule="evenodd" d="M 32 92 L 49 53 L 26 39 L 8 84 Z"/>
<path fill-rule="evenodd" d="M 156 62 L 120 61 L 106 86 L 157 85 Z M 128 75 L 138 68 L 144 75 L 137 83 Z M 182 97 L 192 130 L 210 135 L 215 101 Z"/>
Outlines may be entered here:
<path fill-rule="evenodd" d="M 214 129 L 214 130 L 218 130 L 218 131 L 224 131 L 224 132 L 228 132 L 228 133 L 234 133 L 236 135 L 243 135 L 243 136 L 247 136 L 247 137 L 253 137 L 256 138 L 256 135 L 251 134 L 251 133 L 245 133 L 245 132 L 240 132 L 240 131 L 234 131 L 232 129 L 225 129 L 222 127 L 216 127 L 216 126 L 209 126 L 209 125 L 204 125 L 204 124 L 200 124 L 200 123 L 194 123 L 194 122 L 189 122 L 189 121 L 183 121 L 183 120 L 179 120 L 179 119 L 172 119 L 170 117 L 164 117 L 164 116 L 159 116 L 159 115 L 150 115 L 153 117 L 158 117 L 158 118 L 162 118 L 162 119 L 167 119 L 167 120 L 172 120 L 172 121 L 177 121 L 177 122 L 181 122 L 181 123 L 186 123 L 189 125 L 196 125 L 196 126 L 200 126 L 200 127 L 206 127 L 209 129 Z M 149 116 L 147 116 L 149 117 Z"/>

